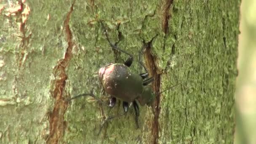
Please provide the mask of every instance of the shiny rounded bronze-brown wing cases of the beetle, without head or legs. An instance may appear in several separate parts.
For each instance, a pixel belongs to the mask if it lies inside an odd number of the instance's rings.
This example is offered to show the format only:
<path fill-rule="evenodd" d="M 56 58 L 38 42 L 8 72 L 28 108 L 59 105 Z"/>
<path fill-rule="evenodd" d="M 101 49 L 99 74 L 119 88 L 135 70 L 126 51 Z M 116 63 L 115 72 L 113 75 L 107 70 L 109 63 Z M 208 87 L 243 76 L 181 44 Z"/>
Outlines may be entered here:
<path fill-rule="evenodd" d="M 132 73 L 125 64 L 102 67 L 99 80 L 106 93 L 126 102 L 133 102 L 144 90 L 142 77 Z"/>

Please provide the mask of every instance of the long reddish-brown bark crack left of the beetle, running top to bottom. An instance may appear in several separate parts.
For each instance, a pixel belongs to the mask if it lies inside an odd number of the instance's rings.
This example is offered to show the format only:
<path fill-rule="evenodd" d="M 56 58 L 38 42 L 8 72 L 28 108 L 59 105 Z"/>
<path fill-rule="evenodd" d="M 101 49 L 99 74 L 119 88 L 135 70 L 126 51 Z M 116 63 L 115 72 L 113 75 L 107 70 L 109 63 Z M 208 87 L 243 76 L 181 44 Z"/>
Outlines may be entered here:
<path fill-rule="evenodd" d="M 72 48 L 74 45 L 72 41 L 72 32 L 69 28 L 69 20 L 73 11 L 74 4 L 75 0 L 73 1 L 70 7 L 70 11 L 67 13 L 67 17 L 64 21 L 68 47 L 64 54 L 64 59 L 59 60 L 58 64 L 53 68 L 55 80 L 53 81 L 54 90 L 51 94 L 55 99 L 55 102 L 53 111 L 49 115 L 50 134 L 46 139 L 47 144 L 58 144 L 61 141 L 62 136 L 64 135 L 64 130 L 66 128 L 64 113 L 67 109 L 67 102 L 64 100 L 64 91 L 67 80 L 66 68 L 71 59 Z"/>

